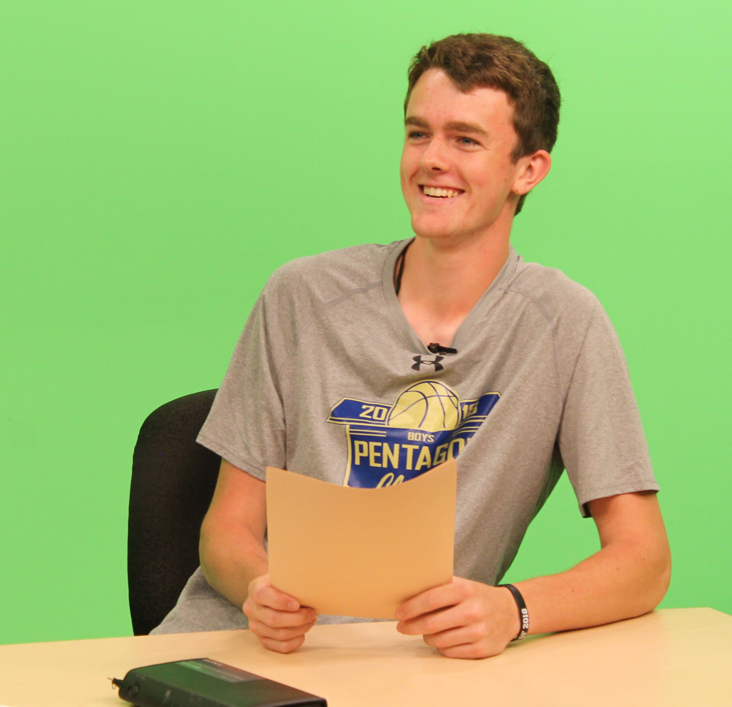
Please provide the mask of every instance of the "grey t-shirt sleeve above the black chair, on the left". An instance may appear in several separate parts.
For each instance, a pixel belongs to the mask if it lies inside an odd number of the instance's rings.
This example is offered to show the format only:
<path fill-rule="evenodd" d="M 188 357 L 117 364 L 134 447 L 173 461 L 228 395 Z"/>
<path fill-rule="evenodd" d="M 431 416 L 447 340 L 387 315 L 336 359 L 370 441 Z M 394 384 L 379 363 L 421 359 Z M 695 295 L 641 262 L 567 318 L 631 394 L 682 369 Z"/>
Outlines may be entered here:
<path fill-rule="evenodd" d="M 255 304 L 198 443 L 264 481 L 285 467 L 285 420 L 268 332 L 266 296 Z"/>

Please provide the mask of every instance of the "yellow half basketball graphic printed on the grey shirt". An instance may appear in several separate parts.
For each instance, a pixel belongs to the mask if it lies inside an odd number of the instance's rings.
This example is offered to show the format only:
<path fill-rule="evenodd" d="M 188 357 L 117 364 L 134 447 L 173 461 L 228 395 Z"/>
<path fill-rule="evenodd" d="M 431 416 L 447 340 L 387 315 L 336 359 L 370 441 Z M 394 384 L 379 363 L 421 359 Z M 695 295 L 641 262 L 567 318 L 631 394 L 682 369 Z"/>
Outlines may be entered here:
<path fill-rule="evenodd" d="M 389 413 L 386 426 L 440 432 L 460 422 L 460 399 L 441 382 L 423 380 L 403 391 Z"/>

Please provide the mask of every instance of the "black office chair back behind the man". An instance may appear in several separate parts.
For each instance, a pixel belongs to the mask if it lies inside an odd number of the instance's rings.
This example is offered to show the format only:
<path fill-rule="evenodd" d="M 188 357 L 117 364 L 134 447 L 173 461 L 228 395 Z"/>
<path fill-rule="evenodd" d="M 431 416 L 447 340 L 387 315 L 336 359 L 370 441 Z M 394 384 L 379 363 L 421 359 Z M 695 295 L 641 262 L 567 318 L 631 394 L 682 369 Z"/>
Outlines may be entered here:
<path fill-rule="evenodd" d="M 196 443 L 216 390 L 157 408 L 132 456 L 127 584 L 135 636 L 149 634 L 175 606 L 198 567 L 198 533 L 221 459 Z"/>

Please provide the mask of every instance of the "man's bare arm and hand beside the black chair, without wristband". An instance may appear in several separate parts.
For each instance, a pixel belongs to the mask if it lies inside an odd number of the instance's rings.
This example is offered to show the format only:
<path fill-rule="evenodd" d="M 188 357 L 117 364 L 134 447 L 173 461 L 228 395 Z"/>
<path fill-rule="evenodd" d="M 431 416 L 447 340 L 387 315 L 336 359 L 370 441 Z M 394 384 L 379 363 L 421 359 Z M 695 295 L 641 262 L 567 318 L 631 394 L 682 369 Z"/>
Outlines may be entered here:
<path fill-rule="evenodd" d="M 302 645 L 317 616 L 269 583 L 265 487 L 264 481 L 222 460 L 201 526 L 201 570 L 217 592 L 242 607 L 262 645 L 289 653 Z"/>

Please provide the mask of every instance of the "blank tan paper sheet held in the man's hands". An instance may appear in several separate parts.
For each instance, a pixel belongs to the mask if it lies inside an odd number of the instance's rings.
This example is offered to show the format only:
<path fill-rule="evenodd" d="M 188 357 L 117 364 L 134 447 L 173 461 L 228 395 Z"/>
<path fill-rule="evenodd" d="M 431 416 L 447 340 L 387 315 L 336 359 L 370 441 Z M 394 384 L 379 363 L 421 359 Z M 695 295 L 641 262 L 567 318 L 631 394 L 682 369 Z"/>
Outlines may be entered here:
<path fill-rule="evenodd" d="M 356 489 L 267 469 L 269 579 L 319 614 L 394 618 L 452 580 L 457 469 Z"/>

